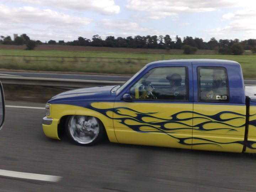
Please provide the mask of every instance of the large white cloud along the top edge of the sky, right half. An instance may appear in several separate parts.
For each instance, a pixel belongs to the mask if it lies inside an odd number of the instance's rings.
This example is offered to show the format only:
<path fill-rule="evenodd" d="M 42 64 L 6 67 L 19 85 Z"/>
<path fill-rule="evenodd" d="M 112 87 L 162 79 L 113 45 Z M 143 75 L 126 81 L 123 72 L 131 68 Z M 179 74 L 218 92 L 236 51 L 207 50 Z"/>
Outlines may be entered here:
<path fill-rule="evenodd" d="M 127 9 L 146 12 L 146 17 L 161 19 L 168 16 L 178 16 L 180 13 L 209 12 L 224 7 L 246 7 L 256 5 L 255 0 L 128 0 Z"/>

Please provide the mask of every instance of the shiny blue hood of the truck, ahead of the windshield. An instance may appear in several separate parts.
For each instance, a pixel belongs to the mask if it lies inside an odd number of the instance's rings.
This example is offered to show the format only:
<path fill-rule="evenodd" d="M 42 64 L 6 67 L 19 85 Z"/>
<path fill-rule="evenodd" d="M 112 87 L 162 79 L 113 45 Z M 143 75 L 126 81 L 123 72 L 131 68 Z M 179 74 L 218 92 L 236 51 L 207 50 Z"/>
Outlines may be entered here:
<path fill-rule="evenodd" d="M 48 103 L 66 103 L 70 101 L 102 101 L 114 100 L 115 95 L 111 94 L 111 90 L 117 85 L 89 87 L 65 91 L 52 97 Z"/>

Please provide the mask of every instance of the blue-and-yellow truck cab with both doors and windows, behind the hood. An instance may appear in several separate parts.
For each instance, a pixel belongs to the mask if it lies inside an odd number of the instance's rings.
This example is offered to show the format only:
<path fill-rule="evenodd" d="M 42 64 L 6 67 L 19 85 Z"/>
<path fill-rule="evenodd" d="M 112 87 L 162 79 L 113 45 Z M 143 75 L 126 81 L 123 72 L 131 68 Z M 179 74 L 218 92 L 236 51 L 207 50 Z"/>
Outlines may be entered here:
<path fill-rule="evenodd" d="M 173 74 L 179 74 L 180 79 L 171 79 Z M 172 89 L 174 81 L 178 89 Z M 152 91 L 148 91 L 149 84 L 154 87 Z M 207 59 L 153 62 L 122 91 L 130 95 L 132 102 L 122 102 L 125 94 L 117 90 L 119 98 L 114 108 L 122 106 L 144 116 L 150 112 L 147 116 L 152 123 L 135 133 L 124 131 L 129 124 L 115 123 L 121 143 L 148 132 L 148 139 L 139 139 L 137 144 L 155 142 L 154 145 L 161 146 L 233 152 L 242 152 L 244 148 L 246 97 L 237 62 Z"/>

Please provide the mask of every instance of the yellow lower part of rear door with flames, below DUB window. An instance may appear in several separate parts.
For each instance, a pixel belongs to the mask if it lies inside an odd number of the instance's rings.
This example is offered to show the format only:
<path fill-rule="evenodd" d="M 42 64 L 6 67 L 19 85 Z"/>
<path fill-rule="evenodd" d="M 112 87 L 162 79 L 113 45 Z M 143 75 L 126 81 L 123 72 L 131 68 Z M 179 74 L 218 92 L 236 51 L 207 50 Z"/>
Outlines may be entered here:
<path fill-rule="evenodd" d="M 245 114 L 245 105 L 194 104 L 192 149 L 242 152 Z"/>

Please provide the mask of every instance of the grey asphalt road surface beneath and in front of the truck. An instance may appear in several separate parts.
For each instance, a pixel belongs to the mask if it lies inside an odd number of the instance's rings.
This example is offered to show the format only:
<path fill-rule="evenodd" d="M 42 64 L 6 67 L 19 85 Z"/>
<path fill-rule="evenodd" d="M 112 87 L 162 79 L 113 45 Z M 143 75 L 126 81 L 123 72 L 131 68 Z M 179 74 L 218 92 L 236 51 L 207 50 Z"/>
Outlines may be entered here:
<path fill-rule="evenodd" d="M 6 101 L 9 106 L 44 103 Z M 6 107 L 0 169 L 60 176 L 58 182 L 0 176 L 0 192 L 256 191 L 256 157 L 103 140 L 90 147 L 44 136 L 40 108 Z M 36 177 L 35 177 L 36 178 Z"/>

